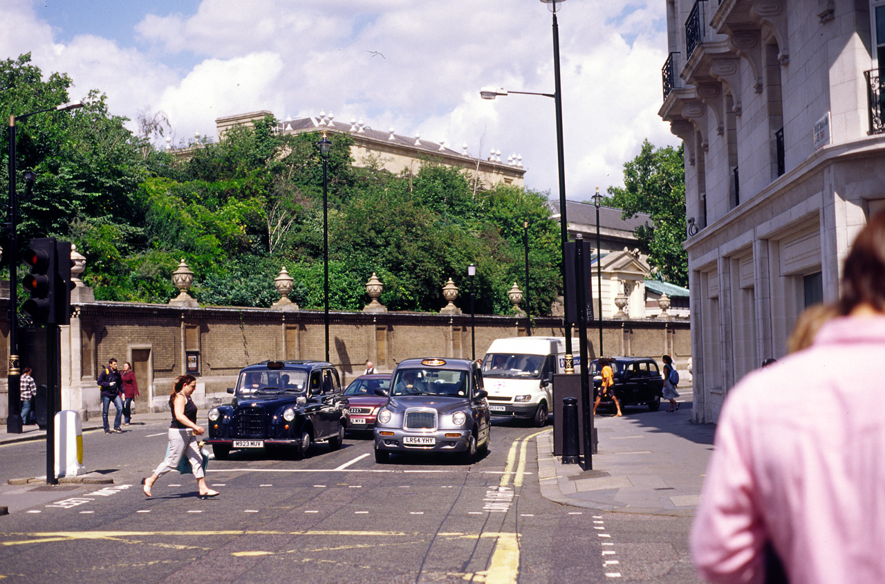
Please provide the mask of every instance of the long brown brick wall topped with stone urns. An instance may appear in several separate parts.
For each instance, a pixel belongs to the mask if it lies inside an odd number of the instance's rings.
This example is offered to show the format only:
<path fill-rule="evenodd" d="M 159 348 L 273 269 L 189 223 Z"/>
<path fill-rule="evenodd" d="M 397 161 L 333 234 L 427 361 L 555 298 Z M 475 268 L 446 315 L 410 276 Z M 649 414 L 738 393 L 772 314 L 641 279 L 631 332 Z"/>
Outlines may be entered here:
<path fill-rule="evenodd" d="M 4 303 L 0 300 L 0 303 Z M 2 305 L 0 305 L 2 306 Z M 135 411 L 164 410 L 173 379 L 196 358 L 201 408 L 227 399 L 239 370 L 268 359 L 325 360 L 322 311 L 281 311 L 265 308 L 184 308 L 168 305 L 86 302 L 77 304 L 70 326 L 61 327 L 63 409 L 85 416 L 100 413 L 95 383 L 110 358 L 132 362 L 141 396 Z M 5 311 L 2 312 L 5 315 Z M 525 319 L 512 316 L 475 317 L 475 356 L 481 358 L 494 339 L 524 336 Z M 667 321 L 604 321 L 606 354 L 650 355 L 669 352 L 677 367 L 689 359 L 689 323 Z M 6 342 L 5 329 L 2 342 Z M 39 330 L 20 333 L 22 364 L 33 362 L 38 383 L 45 374 L 36 365 Z M 535 336 L 562 336 L 558 318 L 535 319 Z M 590 323 L 588 347 L 596 356 L 598 324 Z M 577 331 L 573 331 L 577 337 Z M 34 347 L 28 349 L 27 347 Z M 577 354 L 579 347 L 573 347 Z M 28 354 L 28 353 L 31 354 Z M 358 376 L 366 360 L 391 371 L 404 359 L 435 355 L 469 358 L 470 315 L 432 313 L 330 312 L 329 359 L 342 383 Z M 0 416 L 6 417 L 6 363 L 0 363 Z M 683 376 L 684 377 L 684 376 Z"/>

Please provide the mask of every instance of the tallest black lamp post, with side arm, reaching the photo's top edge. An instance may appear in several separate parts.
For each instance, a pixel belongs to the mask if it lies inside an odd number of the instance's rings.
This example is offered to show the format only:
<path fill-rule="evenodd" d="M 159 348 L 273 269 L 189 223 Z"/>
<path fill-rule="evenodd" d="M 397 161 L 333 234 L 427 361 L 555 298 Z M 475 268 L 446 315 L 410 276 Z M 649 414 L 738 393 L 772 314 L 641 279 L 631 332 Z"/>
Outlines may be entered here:
<path fill-rule="evenodd" d="M 566 241 L 568 241 L 568 220 L 566 218 L 566 159 L 563 149 L 563 132 L 562 132 L 562 87 L 559 75 L 559 26 L 556 19 L 556 13 L 560 8 L 560 4 L 566 0 L 541 0 L 543 4 L 547 4 L 550 12 L 553 13 L 553 74 L 554 74 L 554 91 L 553 93 L 531 93 L 528 91 L 510 91 L 510 93 L 520 93 L 525 95 L 553 97 L 556 104 L 556 141 L 557 141 L 557 157 L 559 166 L 559 239 L 562 248 L 562 300 L 563 305 L 568 305 L 569 291 L 566 290 Z M 480 95 L 483 99 L 494 99 L 498 96 L 505 96 L 508 92 L 505 90 L 482 90 Z M 566 373 L 574 373 L 574 362 L 572 353 L 572 327 L 565 319 L 566 332 Z"/>

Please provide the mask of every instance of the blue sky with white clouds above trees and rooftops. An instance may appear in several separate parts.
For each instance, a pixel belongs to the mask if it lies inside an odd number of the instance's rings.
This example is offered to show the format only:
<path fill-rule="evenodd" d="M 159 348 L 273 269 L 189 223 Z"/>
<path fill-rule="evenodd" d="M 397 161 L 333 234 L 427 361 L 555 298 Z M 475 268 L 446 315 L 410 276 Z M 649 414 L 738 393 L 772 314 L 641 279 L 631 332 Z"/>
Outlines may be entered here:
<path fill-rule="evenodd" d="M 566 198 L 623 185 L 658 117 L 665 0 L 558 5 Z M 558 199 L 552 14 L 538 0 L 0 0 L 0 58 L 30 52 L 97 89 L 111 113 L 165 113 L 173 144 L 217 138 L 215 119 L 335 114 L 473 157 L 518 154 L 525 183 Z M 135 130 L 135 123 L 130 123 Z"/>

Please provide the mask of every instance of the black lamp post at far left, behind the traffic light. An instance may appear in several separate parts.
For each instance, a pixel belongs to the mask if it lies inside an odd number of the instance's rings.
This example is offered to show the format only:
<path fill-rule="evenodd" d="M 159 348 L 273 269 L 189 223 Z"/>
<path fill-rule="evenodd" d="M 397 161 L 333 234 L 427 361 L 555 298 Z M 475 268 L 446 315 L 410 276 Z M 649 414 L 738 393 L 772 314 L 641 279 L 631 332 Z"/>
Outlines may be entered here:
<path fill-rule="evenodd" d="M 19 238 L 15 232 L 18 223 L 15 190 L 15 122 L 26 120 L 35 113 L 66 112 L 67 110 L 75 110 L 82 106 L 82 102 L 72 101 L 67 104 L 37 110 L 36 112 L 21 113 L 19 115 L 11 114 L 9 116 L 9 206 L 7 207 L 6 223 L 3 227 L 4 231 L 6 231 L 6 241 L 9 243 L 9 247 L 6 250 L 6 255 L 9 257 L 9 308 L 7 308 L 6 313 L 6 321 L 9 323 L 9 365 L 7 368 L 7 387 L 9 388 L 7 403 L 9 414 L 6 417 L 6 432 L 11 434 L 20 434 L 22 430 L 22 419 L 19 415 L 19 409 L 21 408 L 21 396 L 19 394 L 21 371 L 19 370 L 19 297 L 17 290 L 18 274 L 16 273 L 19 260 Z M 31 182 L 31 180 L 28 180 L 28 185 Z"/>

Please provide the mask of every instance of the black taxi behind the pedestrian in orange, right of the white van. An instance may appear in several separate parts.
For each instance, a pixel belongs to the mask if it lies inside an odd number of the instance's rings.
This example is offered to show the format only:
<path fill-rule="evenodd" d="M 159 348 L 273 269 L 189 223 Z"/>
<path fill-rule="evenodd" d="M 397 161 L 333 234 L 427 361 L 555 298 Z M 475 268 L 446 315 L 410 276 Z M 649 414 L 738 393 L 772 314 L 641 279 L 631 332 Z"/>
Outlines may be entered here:
<path fill-rule="evenodd" d="M 658 363 L 650 357 L 610 357 L 614 373 L 614 385 L 609 389 L 620 401 L 621 407 L 647 405 L 651 411 L 660 408 L 661 393 L 664 391 L 664 378 L 658 370 Z M 599 395 L 602 386 L 602 371 L 599 362 L 590 362 L 590 376 L 593 378 L 593 386 L 596 395 Z M 595 400 L 596 398 L 594 398 Z M 614 401 L 608 395 L 604 395 L 599 402 L 614 408 Z"/>

